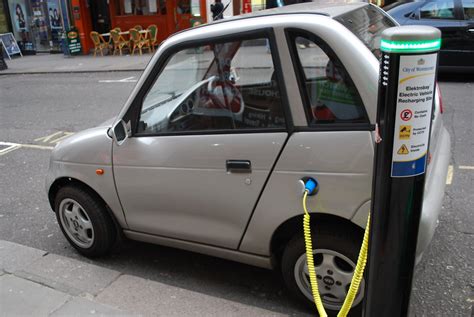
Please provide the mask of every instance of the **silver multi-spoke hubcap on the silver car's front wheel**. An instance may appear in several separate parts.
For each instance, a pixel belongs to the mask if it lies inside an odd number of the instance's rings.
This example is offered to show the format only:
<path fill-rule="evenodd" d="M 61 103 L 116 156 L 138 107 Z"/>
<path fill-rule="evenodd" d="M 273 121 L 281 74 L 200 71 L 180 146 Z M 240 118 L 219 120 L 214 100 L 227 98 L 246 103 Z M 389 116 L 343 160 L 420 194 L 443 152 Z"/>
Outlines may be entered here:
<path fill-rule="evenodd" d="M 75 200 L 66 198 L 59 205 L 59 218 L 68 237 L 79 247 L 87 249 L 94 243 L 94 228 L 89 215 Z"/>

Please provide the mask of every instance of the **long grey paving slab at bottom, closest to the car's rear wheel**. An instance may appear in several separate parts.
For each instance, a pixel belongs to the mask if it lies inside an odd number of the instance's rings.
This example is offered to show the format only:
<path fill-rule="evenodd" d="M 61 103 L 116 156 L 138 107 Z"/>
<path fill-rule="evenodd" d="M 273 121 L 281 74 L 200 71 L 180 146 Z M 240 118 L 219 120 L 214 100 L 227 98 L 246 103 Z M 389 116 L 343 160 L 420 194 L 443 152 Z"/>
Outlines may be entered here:
<path fill-rule="evenodd" d="M 286 316 L 131 275 L 120 276 L 95 299 L 144 316 Z"/>

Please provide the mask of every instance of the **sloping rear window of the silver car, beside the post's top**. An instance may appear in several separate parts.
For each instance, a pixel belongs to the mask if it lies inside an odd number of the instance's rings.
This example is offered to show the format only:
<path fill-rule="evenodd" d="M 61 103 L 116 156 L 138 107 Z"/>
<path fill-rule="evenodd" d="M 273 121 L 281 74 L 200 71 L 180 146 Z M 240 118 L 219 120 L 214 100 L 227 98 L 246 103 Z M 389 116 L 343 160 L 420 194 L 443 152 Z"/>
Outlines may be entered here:
<path fill-rule="evenodd" d="M 385 29 L 396 24 L 374 6 L 365 6 L 335 19 L 367 46 L 375 57 L 380 58 L 380 37 Z"/>

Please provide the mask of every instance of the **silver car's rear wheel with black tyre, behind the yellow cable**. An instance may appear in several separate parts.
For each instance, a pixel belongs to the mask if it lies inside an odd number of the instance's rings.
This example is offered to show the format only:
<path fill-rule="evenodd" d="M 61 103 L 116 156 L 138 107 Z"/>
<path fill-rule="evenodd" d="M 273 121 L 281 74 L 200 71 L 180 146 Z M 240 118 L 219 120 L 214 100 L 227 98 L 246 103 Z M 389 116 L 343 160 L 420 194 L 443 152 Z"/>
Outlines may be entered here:
<path fill-rule="evenodd" d="M 311 228 L 314 264 L 321 300 L 329 316 L 336 316 L 344 302 L 350 285 L 353 269 L 357 263 L 362 234 L 349 225 L 315 224 Z M 313 301 L 306 265 L 306 250 L 301 233 L 286 245 L 281 270 L 283 280 L 291 294 L 312 310 Z M 354 300 L 349 316 L 362 315 L 364 280 Z"/>

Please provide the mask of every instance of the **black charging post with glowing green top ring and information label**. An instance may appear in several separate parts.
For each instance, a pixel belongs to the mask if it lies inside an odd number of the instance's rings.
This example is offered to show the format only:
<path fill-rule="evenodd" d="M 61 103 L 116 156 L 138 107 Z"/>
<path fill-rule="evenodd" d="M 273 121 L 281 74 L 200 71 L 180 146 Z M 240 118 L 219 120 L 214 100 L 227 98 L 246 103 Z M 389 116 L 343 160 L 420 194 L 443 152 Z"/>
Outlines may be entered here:
<path fill-rule="evenodd" d="M 440 36 L 427 26 L 382 33 L 364 316 L 408 314 Z"/>

